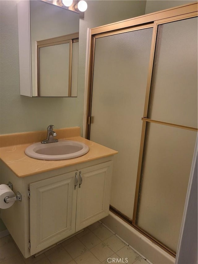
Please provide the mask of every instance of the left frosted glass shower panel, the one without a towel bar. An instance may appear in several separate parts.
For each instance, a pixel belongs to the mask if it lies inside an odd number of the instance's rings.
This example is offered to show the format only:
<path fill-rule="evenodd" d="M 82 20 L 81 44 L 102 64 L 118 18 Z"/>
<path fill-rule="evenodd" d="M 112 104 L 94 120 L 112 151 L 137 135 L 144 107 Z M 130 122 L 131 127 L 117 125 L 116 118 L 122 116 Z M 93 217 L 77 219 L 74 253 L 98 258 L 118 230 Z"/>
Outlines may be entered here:
<path fill-rule="evenodd" d="M 132 219 L 153 28 L 96 38 L 90 140 L 118 150 L 110 204 Z"/>

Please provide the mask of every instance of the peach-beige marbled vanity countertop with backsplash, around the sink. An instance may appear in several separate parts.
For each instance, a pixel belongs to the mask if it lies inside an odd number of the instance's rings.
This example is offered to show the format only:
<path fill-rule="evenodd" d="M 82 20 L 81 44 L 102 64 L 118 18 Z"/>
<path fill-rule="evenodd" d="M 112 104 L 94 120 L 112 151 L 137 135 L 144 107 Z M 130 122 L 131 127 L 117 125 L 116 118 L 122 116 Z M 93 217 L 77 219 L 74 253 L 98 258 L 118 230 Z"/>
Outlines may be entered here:
<path fill-rule="evenodd" d="M 54 129 L 58 139 L 80 141 L 88 145 L 87 154 L 67 160 L 39 160 L 30 158 L 25 149 L 33 143 L 40 142 L 46 137 L 46 131 L 25 132 L 0 135 L 0 158 L 19 178 L 46 172 L 74 164 L 88 162 L 98 158 L 108 157 L 118 152 L 105 146 L 87 140 L 80 136 L 80 128 Z M 29 142 L 28 142 L 29 141 Z"/>

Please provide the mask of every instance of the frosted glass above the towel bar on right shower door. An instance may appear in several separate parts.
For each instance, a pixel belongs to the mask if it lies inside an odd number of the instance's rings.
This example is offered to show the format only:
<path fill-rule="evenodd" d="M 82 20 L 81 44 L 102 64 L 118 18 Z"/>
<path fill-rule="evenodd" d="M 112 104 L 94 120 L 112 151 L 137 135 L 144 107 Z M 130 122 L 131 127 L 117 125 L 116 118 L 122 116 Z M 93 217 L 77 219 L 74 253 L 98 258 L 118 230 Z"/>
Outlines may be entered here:
<path fill-rule="evenodd" d="M 150 119 L 197 128 L 197 22 L 158 25 Z"/>

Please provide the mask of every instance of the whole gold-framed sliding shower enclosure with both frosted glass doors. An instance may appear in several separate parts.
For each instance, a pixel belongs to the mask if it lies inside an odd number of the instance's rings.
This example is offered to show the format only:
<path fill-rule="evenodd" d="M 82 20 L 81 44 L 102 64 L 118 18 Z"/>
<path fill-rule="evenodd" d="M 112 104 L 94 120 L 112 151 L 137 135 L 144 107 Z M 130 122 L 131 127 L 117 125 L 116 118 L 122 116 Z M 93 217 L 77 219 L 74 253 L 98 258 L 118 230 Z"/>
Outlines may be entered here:
<path fill-rule="evenodd" d="M 118 150 L 111 210 L 174 256 L 197 135 L 197 4 L 91 36 L 86 137 Z"/>

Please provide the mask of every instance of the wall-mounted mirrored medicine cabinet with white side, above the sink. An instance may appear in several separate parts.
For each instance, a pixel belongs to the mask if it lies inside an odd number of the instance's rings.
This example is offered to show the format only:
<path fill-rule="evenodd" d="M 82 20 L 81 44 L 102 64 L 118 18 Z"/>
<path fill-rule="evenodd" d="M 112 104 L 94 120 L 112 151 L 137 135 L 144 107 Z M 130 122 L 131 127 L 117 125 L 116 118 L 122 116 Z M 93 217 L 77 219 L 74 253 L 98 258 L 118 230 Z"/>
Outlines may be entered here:
<path fill-rule="evenodd" d="M 25 15 L 27 9 L 28 17 Z M 28 26 L 25 26 L 27 21 L 24 19 L 28 19 Z M 77 96 L 79 19 L 79 13 L 49 2 L 18 2 L 20 94 Z M 30 36 L 28 91 L 25 87 L 28 70 L 24 65 L 25 60 L 28 67 L 24 50 L 27 50 L 27 31 Z"/>

